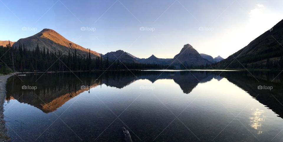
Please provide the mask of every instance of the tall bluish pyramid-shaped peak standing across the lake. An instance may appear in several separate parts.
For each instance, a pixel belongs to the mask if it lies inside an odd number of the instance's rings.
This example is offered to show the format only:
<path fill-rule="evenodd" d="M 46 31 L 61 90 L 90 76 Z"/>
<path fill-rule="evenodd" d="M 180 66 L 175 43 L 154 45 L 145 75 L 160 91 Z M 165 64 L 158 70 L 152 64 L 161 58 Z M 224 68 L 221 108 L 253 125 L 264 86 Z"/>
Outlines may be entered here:
<path fill-rule="evenodd" d="M 180 67 L 181 63 L 185 66 L 211 64 L 211 62 L 202 58 L 200 53 L 198 53 L 198 51 L 195 50 L 190 44 L 184 45 L 180 53 L 175 55 L 170 62 L 177 68 Z"/>

